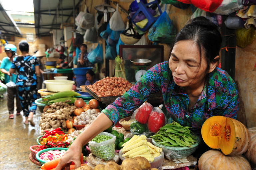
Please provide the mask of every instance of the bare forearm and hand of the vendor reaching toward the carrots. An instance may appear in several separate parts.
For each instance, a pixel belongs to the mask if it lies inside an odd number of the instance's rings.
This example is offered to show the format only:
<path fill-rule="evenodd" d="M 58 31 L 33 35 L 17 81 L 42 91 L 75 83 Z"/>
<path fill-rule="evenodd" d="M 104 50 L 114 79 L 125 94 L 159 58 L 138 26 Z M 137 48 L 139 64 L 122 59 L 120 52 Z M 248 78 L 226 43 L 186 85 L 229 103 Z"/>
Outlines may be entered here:
<path fill-rule="evenodd" d="M 68 151 L 61 157 L 60 163 L 55 170 L 61 170 L 64 167 L 67 167 L 68 169 L 66 168 L 66 170 L 69 170 L 69 165 L 72 162 L 75 163 L 76 168 L 81 166 L 80 157 L 82 147 L 91 141 L 97 134 L 109 128 L 112 124 L 113 122 L 104 113 L 101 113 L 90 126 L 78 135 Z"/>

